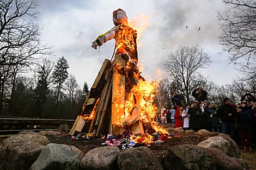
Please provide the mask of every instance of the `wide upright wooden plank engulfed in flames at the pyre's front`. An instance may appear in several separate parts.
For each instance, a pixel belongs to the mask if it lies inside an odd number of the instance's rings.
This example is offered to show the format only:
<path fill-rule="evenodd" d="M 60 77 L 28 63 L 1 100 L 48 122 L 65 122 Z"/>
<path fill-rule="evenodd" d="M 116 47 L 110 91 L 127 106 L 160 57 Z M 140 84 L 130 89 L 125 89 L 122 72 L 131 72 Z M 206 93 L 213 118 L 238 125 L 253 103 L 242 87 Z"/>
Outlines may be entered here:
<path fill-rule="evenodd" d="M 118 64 L 124 68 L 125 60 L 118 54 L 115 54 L 113 65 Z M 117 135 L 123 133 L 124 129 L 117 125 L 117 118 L 124 114 L 124 101 L 125 101 L 125 75 L 121 75 L 116 68 L 113 70 L 112 80 L 112 109 L 111 109 L 111 134 Z"/>

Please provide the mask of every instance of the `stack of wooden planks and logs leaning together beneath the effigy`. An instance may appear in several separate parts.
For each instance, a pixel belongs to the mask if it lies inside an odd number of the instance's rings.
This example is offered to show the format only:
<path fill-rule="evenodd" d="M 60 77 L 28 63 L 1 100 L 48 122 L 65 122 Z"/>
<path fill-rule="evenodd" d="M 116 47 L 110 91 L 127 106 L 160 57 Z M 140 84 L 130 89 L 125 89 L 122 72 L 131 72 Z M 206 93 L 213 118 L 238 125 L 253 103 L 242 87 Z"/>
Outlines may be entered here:
<path fill-rule="evenodd" d="M 123 67 L 125 70 L 125 60 L 120 55 L 115 54 L 114 61 L 111 63 L 105 59 L 98 73 L 92 88 L 82 106 L 81 114 L 77 116 L 76 122 L 70 130 L 70 135 L 77 133 L 93 133 L 93 136 L 100 137 L 102 134 L 119 134 L 124 129 L 114 126 L 112 120 L 115 102 L 124 100 L 125 89 L 121 98 L 113 95 L 116 90 L 113 88 L 115 74 L 118 73 L 115 65 Z M 125 85 L 125 75 L 119 75 L 118 86 Z M 93 116 L 92 116 L 93 115 Z"/>

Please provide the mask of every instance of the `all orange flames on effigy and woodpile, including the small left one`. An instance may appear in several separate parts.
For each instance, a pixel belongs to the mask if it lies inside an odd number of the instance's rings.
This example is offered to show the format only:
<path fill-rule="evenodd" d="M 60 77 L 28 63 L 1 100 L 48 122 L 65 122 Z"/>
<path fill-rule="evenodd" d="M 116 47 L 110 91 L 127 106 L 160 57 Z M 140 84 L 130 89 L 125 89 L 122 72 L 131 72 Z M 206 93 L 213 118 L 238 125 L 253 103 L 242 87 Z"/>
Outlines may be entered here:
<path fill-rule="evenodd" d="M 129 24 L 123 23 L 119 26 L 115 36 L 115 53 L 123 52 L 127 49 L 130 50 L 130 54 L 135 51 L 137 53 L 136 44 L 142 35 L 142 31 L 148 26 L 148 18 L 149 16 L 138 15 L 135 20 L 130 20 Z M 157 95 L 156 89 L 159 81 L 144 80 L 138 68 L 138 61 L 132 62 L 132 60 L 134 59 L 126 61 L 125 66 L 121 66 L 120 63 L 115 64 L 116 71 L 113 72 L 113 98 L 115 104 L 112 105 L 112 124 L 114 127 L 125 129 L 127 125 L 140 122 L 149 124 L 158 134 L 168 135 L 168 132 L 159 127 L 155 121 L 157 107 L 153 102 Z M 137 71 L 133 71 L 136 69 Z M 132 73 L 132 75 L 127 72 Z M 128 85 L 121 85 L 120 83 L 124 79 L 136 79 L 136 84 L 127 91 Z M 87 121 L 93 119 L 99 100 L 100 98 L 97 99 L 92 113 L 83 116 L 84 119 Z M 136 143 L 152 143 L 153 136 L 148 133 L 147 129 L 143 133 L 144 135 L 142 136 L 132 135 L 130 140 L 134 140 Z"/>

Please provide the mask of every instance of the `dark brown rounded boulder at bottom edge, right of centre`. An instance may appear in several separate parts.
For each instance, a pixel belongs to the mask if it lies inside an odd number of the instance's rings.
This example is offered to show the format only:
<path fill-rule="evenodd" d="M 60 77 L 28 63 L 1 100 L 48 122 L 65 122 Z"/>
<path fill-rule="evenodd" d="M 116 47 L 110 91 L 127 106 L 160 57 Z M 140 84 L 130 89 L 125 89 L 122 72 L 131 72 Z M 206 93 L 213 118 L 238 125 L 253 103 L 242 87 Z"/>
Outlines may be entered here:
<path fill-rule="evenodd" d="M 216 170 L 216 163 L 205 148 L 182 144 L 172 147 L 164 157 L 164 169 Z"/>

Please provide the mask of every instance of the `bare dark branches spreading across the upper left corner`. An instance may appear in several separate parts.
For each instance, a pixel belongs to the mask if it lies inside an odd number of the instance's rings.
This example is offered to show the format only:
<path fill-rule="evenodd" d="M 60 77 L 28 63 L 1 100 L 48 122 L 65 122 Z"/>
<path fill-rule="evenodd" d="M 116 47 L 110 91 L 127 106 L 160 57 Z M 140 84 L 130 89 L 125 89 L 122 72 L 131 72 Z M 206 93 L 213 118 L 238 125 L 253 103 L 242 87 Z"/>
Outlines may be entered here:
<path fill-rule="evenodd" d="M 50 54 L 42 45 L 35 0 L 0 1 L 0 65 L 29 66 L 35 54 Z"/>

